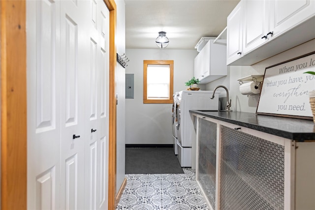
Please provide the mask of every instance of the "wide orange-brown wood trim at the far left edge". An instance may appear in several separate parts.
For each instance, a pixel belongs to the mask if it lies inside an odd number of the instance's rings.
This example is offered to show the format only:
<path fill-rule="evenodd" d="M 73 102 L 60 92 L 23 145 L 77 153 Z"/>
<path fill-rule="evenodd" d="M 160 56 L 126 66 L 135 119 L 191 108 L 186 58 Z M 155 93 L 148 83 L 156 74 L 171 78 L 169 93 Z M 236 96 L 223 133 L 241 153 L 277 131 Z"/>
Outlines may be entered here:
<path fill-rule="evenodd" d="M 26 3 L 0 1 L 1 209 L 27 209 Z"/>

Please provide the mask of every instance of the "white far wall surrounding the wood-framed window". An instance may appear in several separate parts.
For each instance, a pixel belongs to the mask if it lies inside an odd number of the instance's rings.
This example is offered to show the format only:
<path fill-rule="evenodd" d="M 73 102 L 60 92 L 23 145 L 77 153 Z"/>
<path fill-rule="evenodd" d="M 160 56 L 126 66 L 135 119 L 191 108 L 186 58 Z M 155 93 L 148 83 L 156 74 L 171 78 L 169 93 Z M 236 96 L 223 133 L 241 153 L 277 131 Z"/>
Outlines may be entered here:
<path fill-rule="evenodd" d="M 154 40 L 153 40 L 154 41 Z M 126 99 L 126 144 L 172 144 L 172 104 L 143 104 L 143 60 L 174 60 L 174 92 L 193 77 L 196 50 L 126 49 L 134 99 Z"/>

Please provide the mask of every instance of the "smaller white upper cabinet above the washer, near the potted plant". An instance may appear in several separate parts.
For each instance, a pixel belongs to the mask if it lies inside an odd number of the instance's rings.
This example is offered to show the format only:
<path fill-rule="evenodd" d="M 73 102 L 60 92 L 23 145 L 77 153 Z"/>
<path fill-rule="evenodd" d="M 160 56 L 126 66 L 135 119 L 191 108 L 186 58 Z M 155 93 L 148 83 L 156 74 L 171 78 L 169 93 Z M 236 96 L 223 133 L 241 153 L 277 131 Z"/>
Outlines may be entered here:
<path fill-rule="evenodd" d="M 213 43 L 210 39 L 194 60 L 194 76 L 201 84 L 209 83 L 227 75 L 226 45 Z"/>

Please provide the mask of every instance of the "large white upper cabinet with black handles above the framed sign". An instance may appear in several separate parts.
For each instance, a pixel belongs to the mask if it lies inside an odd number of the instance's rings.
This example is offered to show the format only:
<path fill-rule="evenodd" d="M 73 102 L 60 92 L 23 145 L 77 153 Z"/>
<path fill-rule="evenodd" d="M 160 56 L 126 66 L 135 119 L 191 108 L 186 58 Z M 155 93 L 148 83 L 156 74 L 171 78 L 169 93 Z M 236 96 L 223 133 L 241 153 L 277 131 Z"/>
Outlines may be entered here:
<path fill-rule="evenodd" d="M 227 64 L 252 65 L 314 38 L 315 0 L 241 0 L 227 18 Z"/>

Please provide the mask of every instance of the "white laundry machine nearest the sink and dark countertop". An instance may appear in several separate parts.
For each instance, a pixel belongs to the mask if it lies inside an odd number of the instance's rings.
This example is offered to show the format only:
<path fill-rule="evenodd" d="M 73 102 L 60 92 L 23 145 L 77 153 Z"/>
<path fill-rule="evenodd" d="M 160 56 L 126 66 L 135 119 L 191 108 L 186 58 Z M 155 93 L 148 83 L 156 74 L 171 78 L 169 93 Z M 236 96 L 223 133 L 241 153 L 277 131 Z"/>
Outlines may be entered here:
<path fill-rule="evenodd" d="M 191 167 L 195 157 L 191 154 L 195 153 L 191 150 L 192 140 L 196 139 L 193 117 L 189 110 L 219 110 L 219 93 L 216 91 L 214 99 L 210 99 L 213 91 L 180 91 L 177 96 L 177 113 L 176 113 L 176 129 L 177 129 L 177 145 L 178 159 L 182 167 Z"/>

